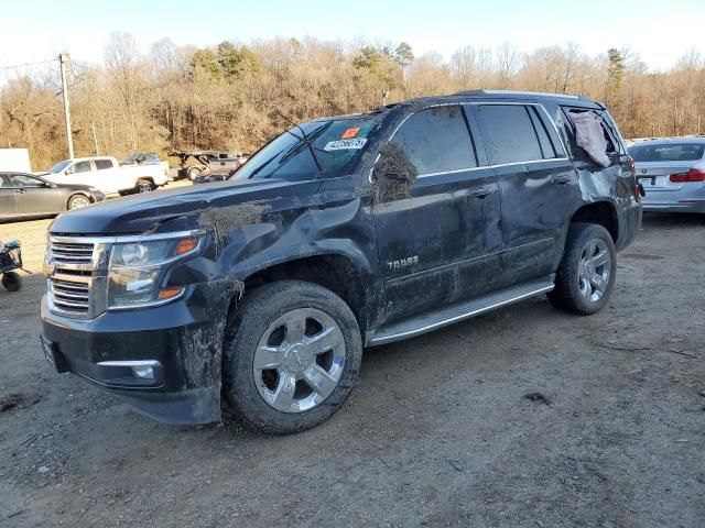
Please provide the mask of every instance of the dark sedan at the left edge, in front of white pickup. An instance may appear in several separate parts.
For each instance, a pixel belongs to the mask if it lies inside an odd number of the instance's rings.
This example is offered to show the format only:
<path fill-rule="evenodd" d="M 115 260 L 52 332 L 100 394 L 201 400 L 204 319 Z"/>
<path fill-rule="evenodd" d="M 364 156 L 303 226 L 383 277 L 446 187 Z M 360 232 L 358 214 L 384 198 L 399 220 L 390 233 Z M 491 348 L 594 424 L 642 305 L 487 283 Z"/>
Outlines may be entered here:
<path fill-rule="evenodd" d="M 59 185 L 32 174 L 0 173 L 0 222 L 51 217 L 105 198 L 87 185 Z"/>

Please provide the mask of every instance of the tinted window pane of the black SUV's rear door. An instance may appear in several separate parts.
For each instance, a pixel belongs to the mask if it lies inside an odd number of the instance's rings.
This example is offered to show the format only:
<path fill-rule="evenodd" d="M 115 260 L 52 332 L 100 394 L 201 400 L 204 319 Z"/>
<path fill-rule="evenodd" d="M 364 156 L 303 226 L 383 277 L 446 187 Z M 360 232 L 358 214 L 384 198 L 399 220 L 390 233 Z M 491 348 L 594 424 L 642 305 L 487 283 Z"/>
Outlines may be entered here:
<path fill-rule="evenodd" d="M 543 158 L 527 107 L 479 105 L 477 117 L 482 127 L 482 140 L 490 164 Z"/>

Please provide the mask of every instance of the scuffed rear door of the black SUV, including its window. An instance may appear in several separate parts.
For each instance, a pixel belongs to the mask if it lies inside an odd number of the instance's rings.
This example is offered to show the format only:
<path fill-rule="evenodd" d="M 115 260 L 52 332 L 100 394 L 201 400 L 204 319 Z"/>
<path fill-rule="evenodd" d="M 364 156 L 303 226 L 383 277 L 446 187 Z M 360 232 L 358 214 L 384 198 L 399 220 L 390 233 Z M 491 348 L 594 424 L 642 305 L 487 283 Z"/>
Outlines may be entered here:
<path fill-rule="evenodd" d="M 471 105 L 502 212 L 502 285 L 557 268 L 566 227 L 579 205 L 577 174 L 541 105 Z"/>

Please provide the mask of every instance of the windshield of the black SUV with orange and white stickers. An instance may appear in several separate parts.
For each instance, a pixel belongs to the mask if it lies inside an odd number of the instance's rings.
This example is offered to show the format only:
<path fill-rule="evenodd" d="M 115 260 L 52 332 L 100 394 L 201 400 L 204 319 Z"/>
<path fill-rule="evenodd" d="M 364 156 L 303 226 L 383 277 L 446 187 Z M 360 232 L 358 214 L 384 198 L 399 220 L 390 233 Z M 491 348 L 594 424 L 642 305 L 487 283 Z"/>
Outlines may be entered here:
<path fill-rule="evenodd" d="M 380 119 L 379 116 L 361 116 L 302 124 L 321 164 L 322 177 L 344 176 L 351 170 Z M 290 182 L 316 178 L 316 161 L 306 143 L 299 139 L 302 138 L 301 130 L 294 127 L 290 132 L 284 132 L 254 154 L 235 173 L 234 178 L 281 178 Z"/>

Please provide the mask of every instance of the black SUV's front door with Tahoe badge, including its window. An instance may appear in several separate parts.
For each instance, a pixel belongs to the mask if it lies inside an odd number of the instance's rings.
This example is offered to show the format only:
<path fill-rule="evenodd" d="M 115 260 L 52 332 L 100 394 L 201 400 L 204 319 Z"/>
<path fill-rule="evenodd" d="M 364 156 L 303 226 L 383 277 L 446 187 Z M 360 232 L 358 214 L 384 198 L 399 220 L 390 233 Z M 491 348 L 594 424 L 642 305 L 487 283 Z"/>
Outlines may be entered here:
<path fill-rule="evenodd" d="M 384 156 L 401 156 L 415 180 L 389 194 L 403 175 L 381 174 Z M 384 306 L 393 322 L 473 297 L 491 287 L 501 246 L 494 172 L 478 166 L 463 108 L 436 106 L 410 116 L 375 168 L 373 205 Z M 380 188 L 384 188 L 380 193 Z M 495 262 L 494 262 L 495 261 Z M 490 277 L 491 278 L 491 277 Z"/>

